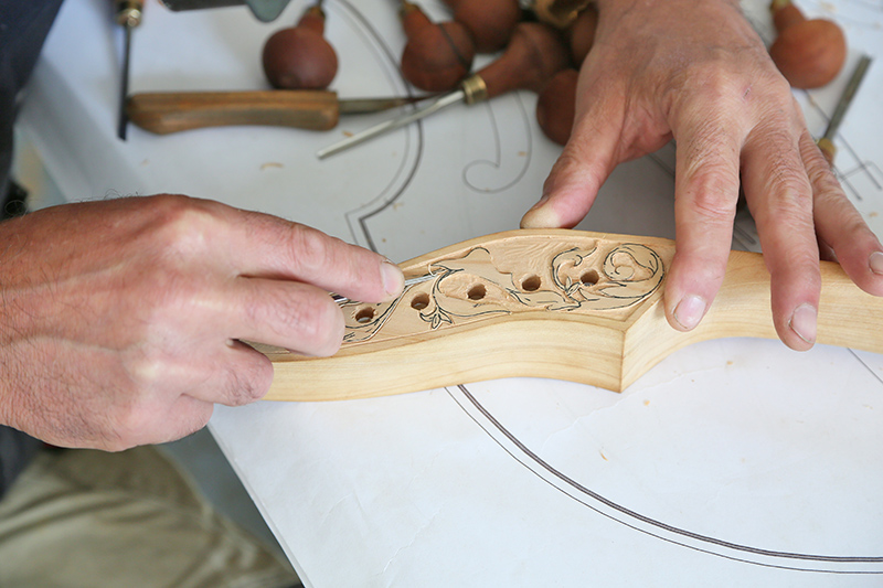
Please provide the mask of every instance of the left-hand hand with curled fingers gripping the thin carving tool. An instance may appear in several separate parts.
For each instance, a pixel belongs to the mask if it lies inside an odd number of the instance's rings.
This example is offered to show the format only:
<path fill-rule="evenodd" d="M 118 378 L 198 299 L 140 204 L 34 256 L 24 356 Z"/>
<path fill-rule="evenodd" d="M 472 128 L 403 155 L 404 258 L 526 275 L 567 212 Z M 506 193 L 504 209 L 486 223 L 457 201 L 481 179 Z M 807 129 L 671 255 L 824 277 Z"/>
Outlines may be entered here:
<path fill-rule="evenodd" d="M 0 224 L 0 424 L 50 443 L 119 450 L 260 398 L 255 341 L 340 346 L 329 291 L 401 292 L 383 257 L 274 216 L 184 196 L 46 209 Z"/>

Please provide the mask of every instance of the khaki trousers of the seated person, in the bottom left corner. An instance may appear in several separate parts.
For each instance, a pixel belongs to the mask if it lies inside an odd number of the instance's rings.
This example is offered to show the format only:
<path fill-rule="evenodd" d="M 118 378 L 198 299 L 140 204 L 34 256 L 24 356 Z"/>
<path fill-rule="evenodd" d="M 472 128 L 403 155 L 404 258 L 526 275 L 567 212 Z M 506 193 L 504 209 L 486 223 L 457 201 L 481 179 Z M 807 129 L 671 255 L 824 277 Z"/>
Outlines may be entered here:
<path fill-rule="evenodd" d="M 156 448 L 43 451 L 0 501 L 0 586 L 298 586 Z"/>

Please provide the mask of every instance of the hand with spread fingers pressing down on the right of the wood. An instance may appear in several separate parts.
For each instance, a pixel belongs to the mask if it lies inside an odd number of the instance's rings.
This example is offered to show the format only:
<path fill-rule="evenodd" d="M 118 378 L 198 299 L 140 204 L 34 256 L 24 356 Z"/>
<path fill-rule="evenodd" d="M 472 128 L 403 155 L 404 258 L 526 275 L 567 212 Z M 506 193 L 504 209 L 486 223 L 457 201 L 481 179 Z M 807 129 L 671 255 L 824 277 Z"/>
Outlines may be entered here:
<path fill-rule="evenodd" d="M 720 289 L 740 178 L 790 348 L 816 339 L 819 258 L 883 296 L 883 247 L 810 137 L 790 87 L 731 0 L 599 0 L 571 139 L 523 227 L 571 227 L 614 168 L 677 142 L 669 323 L 689 331 Z"/>

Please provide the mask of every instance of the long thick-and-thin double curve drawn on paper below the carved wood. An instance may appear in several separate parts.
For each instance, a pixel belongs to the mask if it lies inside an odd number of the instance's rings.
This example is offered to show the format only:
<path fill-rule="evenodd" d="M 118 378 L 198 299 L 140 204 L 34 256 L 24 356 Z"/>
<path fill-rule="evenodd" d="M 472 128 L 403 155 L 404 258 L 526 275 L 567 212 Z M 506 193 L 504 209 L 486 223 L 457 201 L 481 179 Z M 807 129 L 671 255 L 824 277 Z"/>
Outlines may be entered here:
<path fill-rule="evenodd" d="M 695 552 L 757 566 L 822 574 L 883 574 L 883 556 L 833 556 L 777 552 L 719 539 L 635 512 L 552 467 L 509 431 L 464 385 L 445 391 L 515 461 L 576 502 L 621 525 Z"/>

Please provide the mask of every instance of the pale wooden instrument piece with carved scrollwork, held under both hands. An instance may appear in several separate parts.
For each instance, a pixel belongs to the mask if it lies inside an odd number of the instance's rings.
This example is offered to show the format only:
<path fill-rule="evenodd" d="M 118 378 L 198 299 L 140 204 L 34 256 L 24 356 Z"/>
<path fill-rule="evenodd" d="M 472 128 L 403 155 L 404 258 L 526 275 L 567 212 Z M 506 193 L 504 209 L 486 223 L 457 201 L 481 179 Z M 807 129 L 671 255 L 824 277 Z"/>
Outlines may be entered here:
<path fill-rule="evenodd" d="M 392 302 L 347 302 L 332 357 L 260 348 L 274 362 L 267 399 L 332 400 L 526 376 L 621 392 L 675 350 L 709 339 L 775 339 L 769 274 L 732 252 L 700 325 L 672 329 L 662 308 L 674 243 L 578 231 L 521 229 L 402 265 L 434 277 Z M 818 342 L 883 353 L 883 299 L 823 261 Z"/>

